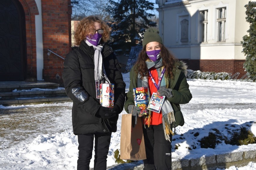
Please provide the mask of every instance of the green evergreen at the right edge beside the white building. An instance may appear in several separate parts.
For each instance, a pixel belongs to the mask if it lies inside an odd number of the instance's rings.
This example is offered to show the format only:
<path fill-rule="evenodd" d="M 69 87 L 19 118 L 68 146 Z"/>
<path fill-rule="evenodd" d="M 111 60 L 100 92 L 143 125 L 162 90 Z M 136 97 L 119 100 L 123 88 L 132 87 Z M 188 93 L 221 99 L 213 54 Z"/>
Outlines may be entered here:
<path fill-rule="evenodd" d="M 247 31 L 249 35 L 243 37 L 241 41 L 246 59 L 244 63 L 245 71 L 250 73 L 251 77 L 256 76 L 256 2 L 249 1 L 246 8 L 246 21 L 250 23 Z"/>

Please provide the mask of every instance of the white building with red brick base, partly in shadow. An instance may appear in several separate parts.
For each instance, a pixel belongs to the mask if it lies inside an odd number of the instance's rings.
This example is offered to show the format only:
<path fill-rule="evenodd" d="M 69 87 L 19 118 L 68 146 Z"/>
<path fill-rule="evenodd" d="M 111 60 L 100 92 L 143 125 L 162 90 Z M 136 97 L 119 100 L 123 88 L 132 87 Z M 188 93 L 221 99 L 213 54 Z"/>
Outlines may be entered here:
<path fill-rule="evenodd" d="M 156 0 L 164 45 L 189 69 L 244 75 L 249 0 Z"/>

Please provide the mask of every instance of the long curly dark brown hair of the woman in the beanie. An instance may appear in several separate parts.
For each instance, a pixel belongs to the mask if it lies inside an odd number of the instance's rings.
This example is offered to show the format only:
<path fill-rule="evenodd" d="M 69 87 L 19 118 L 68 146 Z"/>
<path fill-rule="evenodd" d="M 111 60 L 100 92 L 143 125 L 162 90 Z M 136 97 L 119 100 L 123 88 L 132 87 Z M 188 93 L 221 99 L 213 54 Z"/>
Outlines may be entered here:
<path fill-rule="evenodd" d="M 174 67 L 174 64 L 178 61 L 178 59 L 175 58 L 175 56 L 162 44 L 160 43 L 161 48 L 161 58 L 163 62 L 163 66 L 165 67 L 165 77 L 174 78 L 174 75 L 172 73 L 172 69 Z M 139 53 L 139 57 L 134 65 L 135 72 L 142 75 L 140 79 L 147 76 L 148 77 L 148 68 L 145 63 L 145 61 L 148 60 L 148 55 L 146 53 L 146 45 L 143 47 L 142 51 Z"/>

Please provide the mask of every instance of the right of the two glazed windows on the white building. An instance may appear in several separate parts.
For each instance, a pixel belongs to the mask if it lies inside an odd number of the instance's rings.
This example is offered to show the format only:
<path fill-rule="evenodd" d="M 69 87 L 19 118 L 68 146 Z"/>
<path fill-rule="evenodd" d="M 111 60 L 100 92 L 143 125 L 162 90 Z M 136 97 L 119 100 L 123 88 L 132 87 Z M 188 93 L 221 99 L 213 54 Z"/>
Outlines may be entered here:
<path fill-rule="evenodd" d="M 217 18 L 217 24 L 218 24 L 218 41 L 226 41 L 226 7 L 218 8 L 218 18 Z"/>

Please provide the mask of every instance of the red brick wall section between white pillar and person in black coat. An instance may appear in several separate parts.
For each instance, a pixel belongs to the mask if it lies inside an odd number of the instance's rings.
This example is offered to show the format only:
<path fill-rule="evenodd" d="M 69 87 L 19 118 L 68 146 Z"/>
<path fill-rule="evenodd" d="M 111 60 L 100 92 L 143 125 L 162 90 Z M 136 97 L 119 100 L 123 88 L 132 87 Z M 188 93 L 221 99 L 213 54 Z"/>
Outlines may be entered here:
<path fill-rule="evenodd" d="M 47 49 L 65 57 L 71 51 L 71 1 L 41 0 L 44 47 L 44 81 L 61 84 L 64 60 Z"/>

